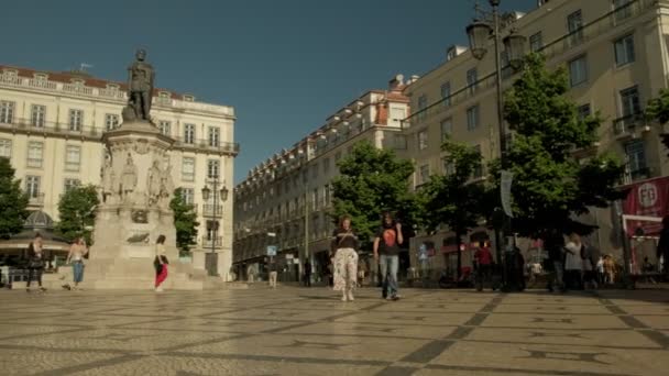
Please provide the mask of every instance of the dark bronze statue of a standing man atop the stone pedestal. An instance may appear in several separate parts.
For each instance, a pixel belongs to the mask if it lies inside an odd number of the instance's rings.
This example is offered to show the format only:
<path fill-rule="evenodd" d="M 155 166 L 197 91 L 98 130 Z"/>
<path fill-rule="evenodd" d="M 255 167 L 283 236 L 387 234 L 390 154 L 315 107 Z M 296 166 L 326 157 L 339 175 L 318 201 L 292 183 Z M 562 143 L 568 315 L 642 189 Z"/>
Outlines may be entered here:
<path fill-rule="evenodd" d="M 136 60 L 128 68 L 128 107 L 123 109 L 123 121 L 151 122 L 151 99 L 153 97 L 153 81 L 155 71 L 151 64 L 145 63 L 146 52 L 138 49 Z M 132 111 L 130 111 L 132 110 Z M 127 119 L 133 118 L 134 119 Z"/>

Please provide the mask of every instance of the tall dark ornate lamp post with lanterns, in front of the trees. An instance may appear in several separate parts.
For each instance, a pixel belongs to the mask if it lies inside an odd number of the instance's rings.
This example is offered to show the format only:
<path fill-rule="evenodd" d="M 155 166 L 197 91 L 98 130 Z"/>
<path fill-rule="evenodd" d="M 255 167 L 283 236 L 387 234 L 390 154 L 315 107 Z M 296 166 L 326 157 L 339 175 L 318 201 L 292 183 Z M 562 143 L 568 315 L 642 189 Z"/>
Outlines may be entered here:
<path fill-rule="evenodd" d="M 490 12 L 481 11 L 483 19 L 474 20 L 470 25 L 467 26 L 467 34 L 469 37 L 470 49 L 474 58 L 481 60 L 487 53 L 487 43 L 490 36 L 494 40 L 494 54 L 495 54 L 495 80 L 496 80 L 496 96 L 497 96 L 497 124 L 500 133 L 500 164 L 502 170 L 506 168 L 506 140 L 507 130 L 504 123 L 504 102 L 502 97 L 502 62 L 500 46 L 504 43 L 504 48 L 509 62 L 509 65 L 514 69 L 520 67 L 523 55 L 525 54 L 525 37 L 515 34 L 512 30 L 508 35 L 502 40 L 501 25 L 500 25 L 500 2 L 501 0 L 489 0 L 492 10 Z M 503 211 L 496 210 L 497 215 L 503 215 L 501 232 L 504 243 L 507 243 L 506 236 L 504 236 L 505 228 L 509 228 L 511 218 Z M 502 262 L 502 244 L 500 241 L 496 242 L 496 256 L 497 262 Z M 503 267 L 504 285 L 507 286 L 507 270 Z"/>

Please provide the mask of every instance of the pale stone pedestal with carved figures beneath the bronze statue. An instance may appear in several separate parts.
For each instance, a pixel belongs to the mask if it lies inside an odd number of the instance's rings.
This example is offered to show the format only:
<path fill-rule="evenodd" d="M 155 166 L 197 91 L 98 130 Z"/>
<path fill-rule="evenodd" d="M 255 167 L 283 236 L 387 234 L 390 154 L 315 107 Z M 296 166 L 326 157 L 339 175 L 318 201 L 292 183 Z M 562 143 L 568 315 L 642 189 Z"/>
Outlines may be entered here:
<path fill-rule="evenodd" d="M 98 208 L 95 244 L 86 267 L 94 288 L 154 287 L 155 243 L 165 235 L 169 259 L 165 288 L 201 289 L 190 280 L 189 265 L 178 262 L 174 215 L 169 209 L 174 184 L 168 151 L 174 142 L 151 123 L 123 123 L 103 136 L 108 157 L 102 172 L 102 203 Z"/>

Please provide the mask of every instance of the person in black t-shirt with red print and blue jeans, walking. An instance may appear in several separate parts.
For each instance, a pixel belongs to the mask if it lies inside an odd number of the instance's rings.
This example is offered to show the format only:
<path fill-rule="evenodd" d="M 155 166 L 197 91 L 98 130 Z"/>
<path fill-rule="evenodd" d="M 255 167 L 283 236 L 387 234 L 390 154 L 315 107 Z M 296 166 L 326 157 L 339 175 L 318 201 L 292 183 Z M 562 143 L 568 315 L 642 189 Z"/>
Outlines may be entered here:
<path fill-rule="evenodd" d="M 402 224 L 395 222 L 390 212 L 383 214 L 382 225 L 374 237 L 374 259 L 381 266 L 382 296 L 397 300 L 397 269 L 399 267 L 399 244 L 404 243 Z"/>

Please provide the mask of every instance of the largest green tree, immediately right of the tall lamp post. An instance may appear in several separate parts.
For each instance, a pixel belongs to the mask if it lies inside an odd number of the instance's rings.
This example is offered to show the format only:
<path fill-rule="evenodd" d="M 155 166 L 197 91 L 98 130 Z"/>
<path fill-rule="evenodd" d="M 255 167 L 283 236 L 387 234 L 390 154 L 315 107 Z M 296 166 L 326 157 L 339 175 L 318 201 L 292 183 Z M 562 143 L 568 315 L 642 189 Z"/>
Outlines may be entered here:
<path fill-rule="evenodd" d="M 622 197 L 616 185 L 624 166 L 617 158 L 594 152 L 574 157 L 575 150 L 593 147 L 602 119 L 599 113 L 581 118 L 568 91 L 564 68 L 548 70 L 541 55 L 530 54 L 505 93 L 504 115 L 515 131 L 505 168 L 514 174 L 514 231 L 524 236 L 539 237 L 552 226 L 592 231 L 574 215 Z M 496 184 L 500 167 L 500 161 L 492 163 Z"/>

